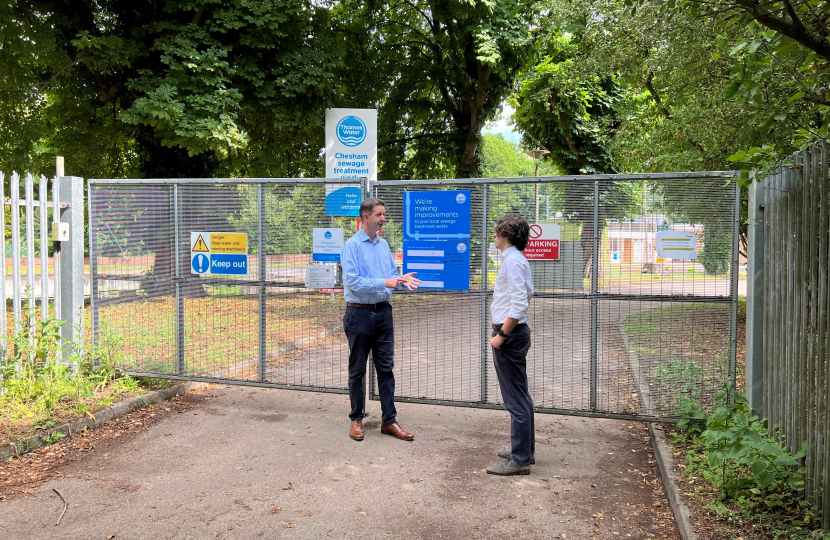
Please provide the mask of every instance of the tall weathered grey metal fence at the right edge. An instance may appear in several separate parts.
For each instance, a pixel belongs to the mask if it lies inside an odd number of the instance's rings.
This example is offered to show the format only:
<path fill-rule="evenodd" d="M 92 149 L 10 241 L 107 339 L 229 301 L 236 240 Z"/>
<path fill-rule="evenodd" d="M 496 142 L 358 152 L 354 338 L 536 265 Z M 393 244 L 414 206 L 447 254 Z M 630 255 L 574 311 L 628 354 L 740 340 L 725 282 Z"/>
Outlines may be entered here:
<path fill-rule="evenodd" d="M 830 177 L 820 141 L 750 187 L 747 383 L 750 404 L 795 453 L 805 495 L 830 527 Z"/>

